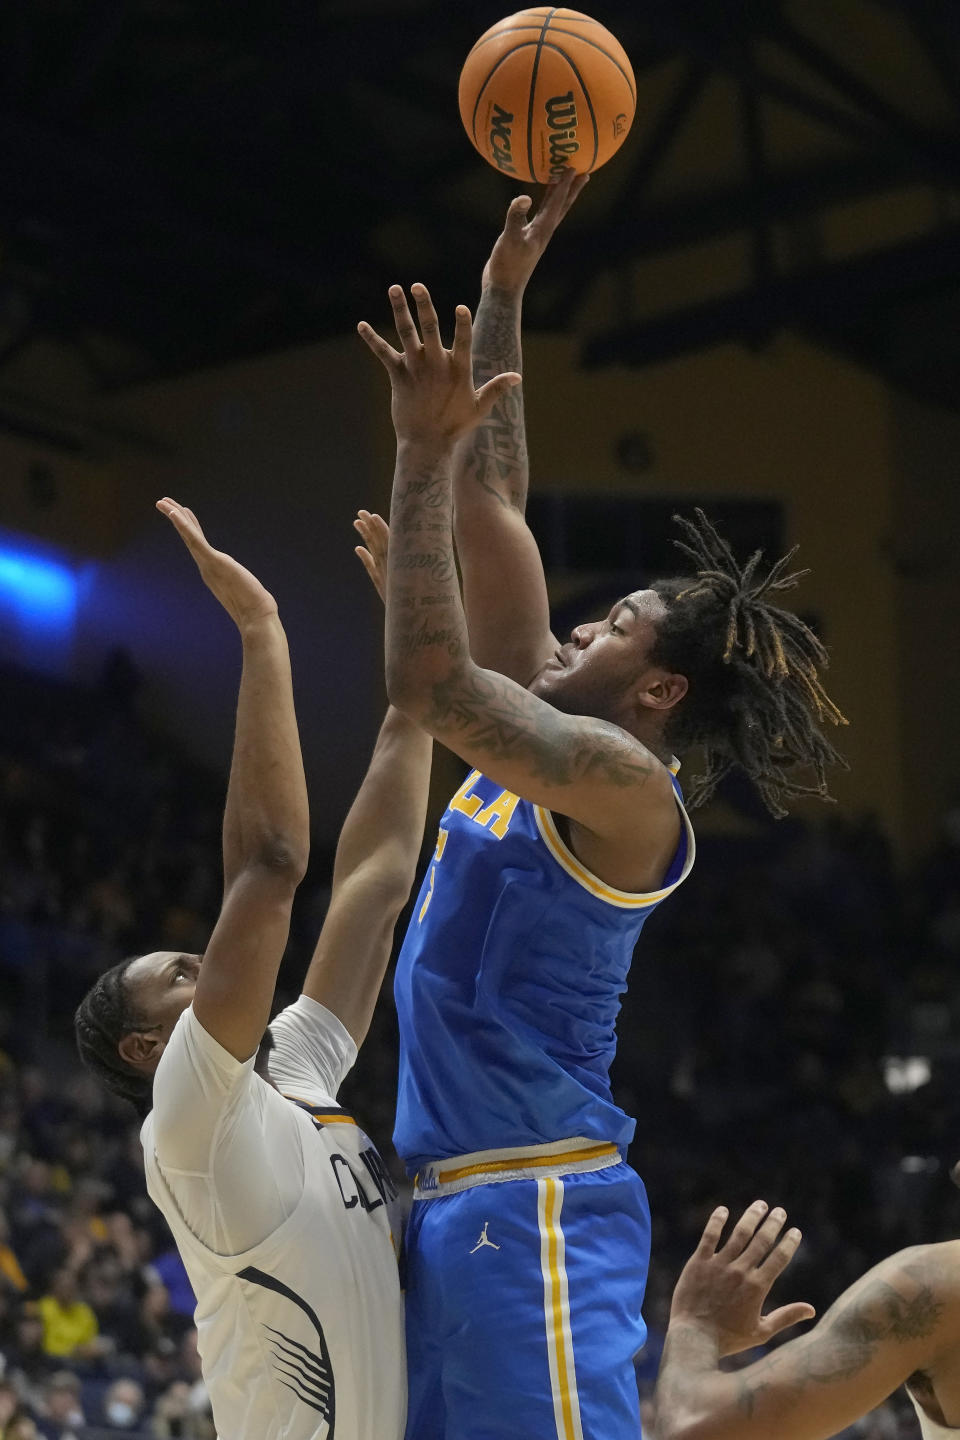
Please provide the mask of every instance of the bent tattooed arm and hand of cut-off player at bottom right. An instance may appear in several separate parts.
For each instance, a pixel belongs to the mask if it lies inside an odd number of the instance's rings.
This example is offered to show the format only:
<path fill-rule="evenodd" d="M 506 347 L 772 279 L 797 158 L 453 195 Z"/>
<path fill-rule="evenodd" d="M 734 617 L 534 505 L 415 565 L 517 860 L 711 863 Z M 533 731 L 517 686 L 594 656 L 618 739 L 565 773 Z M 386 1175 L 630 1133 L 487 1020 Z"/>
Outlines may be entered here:
<path fill-rule="evenodd" d="M 761 1315 L 800 1243 L 799 1230 L 782 1236 L 783 1210 L 757 1201 L 718 1248 L 725 1221 L 723 1208 L 710 1217 L 674 1292 L 656 1385 L 658 1440 L 828 1440 L 900 1385 L 924 1440 L 960 1436 L 960 1241 L 882 1260 L 815 1329 L 724 1372 L 723 1355 L 763 1345 L 813 1315 L 809 1305 Z"/>

